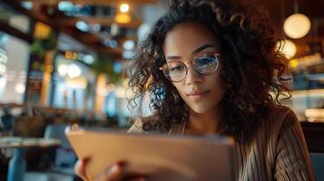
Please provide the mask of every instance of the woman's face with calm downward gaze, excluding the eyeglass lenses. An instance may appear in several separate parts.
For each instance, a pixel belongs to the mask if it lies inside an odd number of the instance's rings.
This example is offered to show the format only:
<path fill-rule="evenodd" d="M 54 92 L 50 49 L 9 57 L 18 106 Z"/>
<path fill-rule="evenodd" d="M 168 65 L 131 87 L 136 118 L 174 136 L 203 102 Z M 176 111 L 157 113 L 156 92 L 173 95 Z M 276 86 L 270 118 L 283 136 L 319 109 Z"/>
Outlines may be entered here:
<path fill-rule="evenodd" d="M 187 75 L 182 81 L 172 82 L 179 91 L 182 100 L 196 113 L 205 113 L 219 109 L 224 90 L 221 86 L 221 58 L 216 71 L 205 75 L 192 68 L 191 60 L 207 52 L 220 52 L 217 37 L 204 25 L 183 23 L 174 26 L 167 33 L 163 44 L 167 62 L 183 62 Z M 211 54 L 211 53 L 210 53 Z"/>

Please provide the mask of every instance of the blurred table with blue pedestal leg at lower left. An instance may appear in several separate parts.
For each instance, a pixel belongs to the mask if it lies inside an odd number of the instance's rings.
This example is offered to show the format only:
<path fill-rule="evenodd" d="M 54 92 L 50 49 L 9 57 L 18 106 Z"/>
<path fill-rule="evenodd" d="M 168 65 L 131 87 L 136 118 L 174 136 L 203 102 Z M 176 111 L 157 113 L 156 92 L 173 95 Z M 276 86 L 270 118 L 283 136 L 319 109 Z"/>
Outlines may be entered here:
<path fill-rule="evenodd" d="M 3 137 L 0 138 L 0 148 L 14 148 L 8 167 L 7 181 L 23 181 L 26 169 L 26 148 L 50 148 L 58 147 L 61 142 L 54 138 L 22 138 Z"/>

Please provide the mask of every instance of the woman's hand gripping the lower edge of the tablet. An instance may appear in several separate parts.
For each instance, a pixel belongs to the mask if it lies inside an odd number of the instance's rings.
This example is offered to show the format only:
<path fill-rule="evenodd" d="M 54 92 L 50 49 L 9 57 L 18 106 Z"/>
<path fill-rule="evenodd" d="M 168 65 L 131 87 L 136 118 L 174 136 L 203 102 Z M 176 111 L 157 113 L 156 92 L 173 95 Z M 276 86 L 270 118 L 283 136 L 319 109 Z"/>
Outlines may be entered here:
<path fill-rule="evenodd" d="M 78 160 L 74 166 L 74 172 L 80 176 L 84 181 L 90 181 L 85 174 L 86 164 L 89 158 Z M 145 181 L 145 177 L 141 175 L 125 175 L 124 168 L 126 162 L 117 162 L 111 167 L 107 167 L 100 176 L 96 176 L 93 181 Z"/>

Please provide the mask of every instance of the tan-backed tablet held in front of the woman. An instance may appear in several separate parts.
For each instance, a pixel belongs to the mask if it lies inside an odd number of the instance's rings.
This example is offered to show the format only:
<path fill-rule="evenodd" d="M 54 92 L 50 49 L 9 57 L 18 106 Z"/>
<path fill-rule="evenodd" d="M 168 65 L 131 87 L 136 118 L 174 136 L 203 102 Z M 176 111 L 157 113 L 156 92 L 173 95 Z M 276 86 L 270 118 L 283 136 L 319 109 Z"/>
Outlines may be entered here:
<path fill-rule="evenodd" d="M 79 158 L 91 157 L 86 175 L 93 179 L 117 161 L 126 172 L 150 181 L 235 180 L 234 143 L 218 136 L 126 134 L 106 129 L 65 129 Z"/>

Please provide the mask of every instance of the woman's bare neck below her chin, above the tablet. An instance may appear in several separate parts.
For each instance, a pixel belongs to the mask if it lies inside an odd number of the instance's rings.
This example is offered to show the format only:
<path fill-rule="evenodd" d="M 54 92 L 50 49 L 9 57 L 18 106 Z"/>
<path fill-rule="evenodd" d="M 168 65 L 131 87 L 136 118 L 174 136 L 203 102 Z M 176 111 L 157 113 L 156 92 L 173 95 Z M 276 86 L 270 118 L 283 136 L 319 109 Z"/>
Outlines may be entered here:
<path fill-rule="evenodd" d="M 191 110 L 186 133 L 200 135 L 218 133 L 218 125 L 220 122 L 221 111 L 212 110 L 204 113 L 196 113 Z"/>

